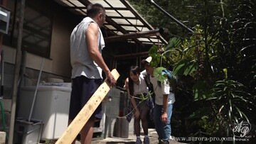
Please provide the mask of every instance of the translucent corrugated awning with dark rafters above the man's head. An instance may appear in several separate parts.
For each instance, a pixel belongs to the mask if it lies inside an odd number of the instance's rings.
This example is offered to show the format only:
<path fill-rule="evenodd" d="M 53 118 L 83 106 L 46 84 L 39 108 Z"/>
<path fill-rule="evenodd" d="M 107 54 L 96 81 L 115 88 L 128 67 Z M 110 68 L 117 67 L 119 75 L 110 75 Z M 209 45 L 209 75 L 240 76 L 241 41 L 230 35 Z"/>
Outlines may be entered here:
<path fill-rule="evenodd" d="M 113 35 L 138 33 L 154 30 L 142 16 L 125 0 L 55 0 L 58 4 L 75 14 L 86 16 L 86 8 L 89 4 L 99 3 L 105 7 L 106 21 L 104 27 Z M 141 38 L 127 39 L 130 43 L 144 43 L 151 45 L 166 44 L 161 35 L 145 36 Z"/>

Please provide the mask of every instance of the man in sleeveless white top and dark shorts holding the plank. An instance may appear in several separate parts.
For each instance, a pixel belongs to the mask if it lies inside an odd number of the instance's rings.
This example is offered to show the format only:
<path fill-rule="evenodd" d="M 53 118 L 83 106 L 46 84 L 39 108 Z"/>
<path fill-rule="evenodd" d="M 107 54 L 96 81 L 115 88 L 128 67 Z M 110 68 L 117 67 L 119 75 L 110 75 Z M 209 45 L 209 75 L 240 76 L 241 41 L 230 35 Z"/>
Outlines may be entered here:
<path fill-rule="evenodd" d="M 70 35 L 70 60 L 72 65 L 72 92 L 69 123 L 73 121 L 92 94 L 102 84 L 102 70 L 110 84 L 116 80 L 102 58 L 105 42 L 100 27 L 105 21 L 105 9 L 101 4 L 87 6 L 87 17 L 76 26 Z M 81 143 L 92 141 L 96 119 L 102 118 L 101 105 L 92 114 L 80 131 Z"/>

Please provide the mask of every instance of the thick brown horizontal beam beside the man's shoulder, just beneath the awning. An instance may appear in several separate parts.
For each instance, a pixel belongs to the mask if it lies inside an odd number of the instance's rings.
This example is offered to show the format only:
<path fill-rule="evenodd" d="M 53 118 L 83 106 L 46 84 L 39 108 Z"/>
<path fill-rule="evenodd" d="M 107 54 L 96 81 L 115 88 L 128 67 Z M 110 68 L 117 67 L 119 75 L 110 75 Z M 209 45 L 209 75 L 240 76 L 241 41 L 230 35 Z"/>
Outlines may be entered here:
<path fill-rule="evenodd" d="M 142 37 L 149 37 L 149 36 L 154 36 L 154 35 L 161 35 L 163 33 L 168 33 L 168 29 L 166 28 L 157 28 L 155 30 L 151 31 L 141 31 L 137 33 L 125 33 L 123 35 L 114 35 L 105 38 L 105 42 L 114 42 L 118 40 L 127 40 L 127 39 L 132 39 L 132 38 L 142 38 Z"/>

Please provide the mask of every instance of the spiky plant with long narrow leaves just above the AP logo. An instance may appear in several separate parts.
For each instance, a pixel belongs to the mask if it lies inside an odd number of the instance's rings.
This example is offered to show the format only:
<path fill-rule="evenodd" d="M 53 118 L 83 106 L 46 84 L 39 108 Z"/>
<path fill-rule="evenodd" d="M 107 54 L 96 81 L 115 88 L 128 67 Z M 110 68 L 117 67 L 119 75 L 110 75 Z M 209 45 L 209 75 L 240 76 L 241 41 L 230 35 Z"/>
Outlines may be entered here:
<path fill-rule="evenodd" d="M 215 82 L 213 87 L 213 93 L 210 94 L 210 101 L 216 106 L 216 111 L 223 118 L 228 118 L 228 121 L 249 119 L 242 111 L 243 106 L 252 106 L 252 102 L 249 100 L 251 94 L 245 92 L 245 87 L 239 82 L 235 82 L 230 79 L 223 79 Z M 245 109 L 246 110 L 246 109 Z"/>

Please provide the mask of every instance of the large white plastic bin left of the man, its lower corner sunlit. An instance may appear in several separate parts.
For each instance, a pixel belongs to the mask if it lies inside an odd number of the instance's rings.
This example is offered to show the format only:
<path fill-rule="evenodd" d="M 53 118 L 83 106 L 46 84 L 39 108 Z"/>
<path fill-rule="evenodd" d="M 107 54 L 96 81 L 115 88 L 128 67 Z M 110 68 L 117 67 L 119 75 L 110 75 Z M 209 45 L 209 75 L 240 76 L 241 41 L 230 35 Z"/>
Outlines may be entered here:
<path fill-rule="evenodd" d="M 18 117 L 28 118 L 36 87 L 21 87 Z M 42 140 L 54 140 L 68 127 L 70 87 L 39 86 L 31 118 L 43 121 Z"/>

